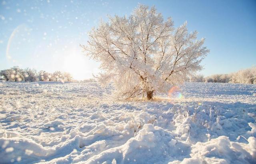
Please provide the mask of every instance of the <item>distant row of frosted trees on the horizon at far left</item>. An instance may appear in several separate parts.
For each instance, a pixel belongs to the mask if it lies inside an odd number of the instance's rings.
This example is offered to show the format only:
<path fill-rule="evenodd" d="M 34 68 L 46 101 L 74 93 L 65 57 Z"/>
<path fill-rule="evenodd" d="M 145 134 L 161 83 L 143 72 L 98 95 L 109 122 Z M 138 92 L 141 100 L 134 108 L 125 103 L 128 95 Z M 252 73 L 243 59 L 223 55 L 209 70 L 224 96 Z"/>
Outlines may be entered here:
<path fill-rule="evenodd" d="M 0 80 L 5 81 L 72 81 L 70 73 L 55 71 L 48 73 L 46 71 L 37 71 L 34 68 L 21 69 L 14 66 L 10 69 L 0 71 Z"/>

